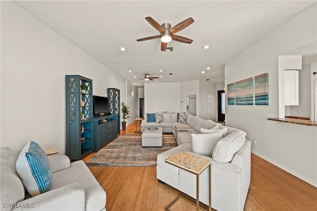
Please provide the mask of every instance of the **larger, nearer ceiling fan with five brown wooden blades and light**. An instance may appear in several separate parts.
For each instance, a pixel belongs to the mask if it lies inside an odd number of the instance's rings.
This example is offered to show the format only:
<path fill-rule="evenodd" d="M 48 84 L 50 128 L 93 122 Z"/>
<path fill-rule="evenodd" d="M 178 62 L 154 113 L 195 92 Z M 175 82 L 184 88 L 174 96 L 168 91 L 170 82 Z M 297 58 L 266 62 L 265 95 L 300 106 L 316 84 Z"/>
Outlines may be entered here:
<path fill-rule="evenodd" d="M 191 44 L 193 40 L 188 39 L 186 37 L 181 37 L 178 35 L 175 35 L 175 33 L 179 32 L 180 30 L 186 28 L 190 24 L 194 23 L 193 18 L 187 18 L 186 20 L 183 20 L 179 24 L 173 26 L 172 28 L 169 23 L 163 23 L 162 25 L 159 25 L 158 22 L 156 22 L 152 17 L 146 17 L 145 18 L 156 30 L 159 31 L 160 35 L 152 36 L 152 37 L 146 37 L 137 40 L 138 42 L 140 41 L 146 41 L 146 40 L 152 40 L 156 38 L 160 38 L 161 44 L 160 44 L 160 50 L 165 51 L 167 47 L 167 43 L 170 42 L 171 40 L 175 40 L 181 43 L 187 43 Z"/>

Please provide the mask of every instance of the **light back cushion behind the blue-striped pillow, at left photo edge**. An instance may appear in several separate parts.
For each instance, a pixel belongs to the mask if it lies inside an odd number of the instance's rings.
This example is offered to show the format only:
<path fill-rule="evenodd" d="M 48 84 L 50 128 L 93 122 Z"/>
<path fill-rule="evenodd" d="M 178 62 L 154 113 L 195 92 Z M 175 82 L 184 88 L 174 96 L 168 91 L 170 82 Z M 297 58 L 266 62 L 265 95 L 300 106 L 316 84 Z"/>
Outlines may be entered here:
<path fill-rule="evenodd" d="M 2 203 L 19 202 L 25 197 L 23 183 L 15 169 L 18 156 L 8 147 L 0 149 L 1 211 L 11 210 L 9 206 L 3 207 Z"/>

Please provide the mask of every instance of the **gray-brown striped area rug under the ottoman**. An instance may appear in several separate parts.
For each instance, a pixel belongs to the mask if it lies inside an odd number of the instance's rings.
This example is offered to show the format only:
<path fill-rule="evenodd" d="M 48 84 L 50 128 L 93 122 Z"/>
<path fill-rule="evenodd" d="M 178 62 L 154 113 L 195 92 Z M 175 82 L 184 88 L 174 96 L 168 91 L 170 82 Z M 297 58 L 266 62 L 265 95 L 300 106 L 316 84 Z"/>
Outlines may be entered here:
<path fill-rule="evenodd" d="M 173 134 L 163 134 L 162 147 L 142 147 L 141 135 L 121 135 L 89 158 L 88 166 L 156 166 L 157 156 L 176 147 Z"/>

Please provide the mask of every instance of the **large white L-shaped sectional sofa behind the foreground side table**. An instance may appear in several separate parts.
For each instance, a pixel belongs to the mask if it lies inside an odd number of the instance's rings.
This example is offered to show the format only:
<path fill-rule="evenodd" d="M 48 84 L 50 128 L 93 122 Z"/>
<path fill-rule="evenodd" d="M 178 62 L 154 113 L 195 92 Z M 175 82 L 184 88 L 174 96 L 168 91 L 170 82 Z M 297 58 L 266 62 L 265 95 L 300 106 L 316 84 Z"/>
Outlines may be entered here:
<path fill-rule="evenodd" d="M 171 123 L 174 126 L 175 124 L 181 123 Z M 166 163 L 165 159 L 178 152 L 209 159 L 211 207 L 217 211 L 243 211 L 251 177 L 251 142 L 246 140 L 246 133 L 190 114 L 187 116 L 187 125 L 191 128 L 177 131 L 178 146 L 158 155 L 159 182 L 166 183 L 196 199 L 196 176 Z M 171 130 L 174 132 L 173 128 Z M 213 134 L 202 134 L 208 132 Z M 208 205 L 208 168 L 201 173 L 199 184 L 200 201 Z"/>

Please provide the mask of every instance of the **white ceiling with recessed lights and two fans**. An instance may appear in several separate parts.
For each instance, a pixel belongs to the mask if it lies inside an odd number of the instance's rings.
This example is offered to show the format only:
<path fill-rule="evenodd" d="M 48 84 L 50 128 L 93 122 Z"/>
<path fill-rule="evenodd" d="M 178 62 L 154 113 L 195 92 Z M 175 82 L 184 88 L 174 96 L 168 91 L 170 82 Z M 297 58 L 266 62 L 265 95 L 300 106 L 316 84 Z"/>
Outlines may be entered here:
<path fill-rule="evenodd" d="M 313 1 L 14 1 L 54 31 L 135 84 L 210 79 L 224 82 L 224 62 L 303 11 Z M 168 43 L 173 52 L 160 52 L 160 40 L 137 42 L 159 35 L 145 19 L 172 25 L 192 17 L 195 22 L 176 35 L 192 44 Z M 203 47 L 209 45 L 210 49 Z M 127 50 L 121 52 L 119 49 Z M 206 68 L 210 67 L 210 70 Z M 128 71 L 132 72 L 129 73 Z M 163 70 L 163 72 L 159 72 Z M 205 71 L 205 74 L 201 72 Z M 162 78 L 139 80 L 134 76 Z M 170 75 L 169 73 L 173 73 Z"/>

